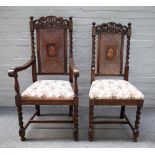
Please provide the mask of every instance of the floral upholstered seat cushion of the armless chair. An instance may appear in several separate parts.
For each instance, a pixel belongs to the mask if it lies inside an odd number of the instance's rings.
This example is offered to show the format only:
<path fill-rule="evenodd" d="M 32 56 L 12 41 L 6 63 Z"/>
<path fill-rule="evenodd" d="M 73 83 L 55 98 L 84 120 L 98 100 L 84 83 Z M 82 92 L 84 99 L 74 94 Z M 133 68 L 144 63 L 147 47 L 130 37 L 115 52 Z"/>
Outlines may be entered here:
<path fill-rule="evenodd" d="M 144 95 L 125 80 L 96 80 L 92 83 L 90 99 L 144 99 Z"/>

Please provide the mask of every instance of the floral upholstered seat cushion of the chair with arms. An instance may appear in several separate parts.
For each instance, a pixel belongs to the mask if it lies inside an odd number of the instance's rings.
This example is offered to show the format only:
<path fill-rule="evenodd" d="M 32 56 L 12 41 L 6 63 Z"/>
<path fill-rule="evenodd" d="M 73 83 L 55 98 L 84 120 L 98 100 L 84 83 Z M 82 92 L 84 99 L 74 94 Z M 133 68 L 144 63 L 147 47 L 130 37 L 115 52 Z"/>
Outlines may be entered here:
<path fill-rule="evenodd" d="M 30 99 L 73 98 L 74 92 L 69 81 L 40 80 L 33 83 L 21 95 Z"/>

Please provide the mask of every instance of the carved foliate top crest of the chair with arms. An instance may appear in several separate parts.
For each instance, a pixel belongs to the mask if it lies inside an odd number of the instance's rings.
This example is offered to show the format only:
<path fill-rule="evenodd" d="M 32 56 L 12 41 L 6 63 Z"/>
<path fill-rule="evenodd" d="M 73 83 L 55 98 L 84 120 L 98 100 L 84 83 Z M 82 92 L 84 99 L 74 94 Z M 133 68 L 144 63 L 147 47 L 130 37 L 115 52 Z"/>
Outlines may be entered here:
<path fill-rule="evenodd" d="M 39 19 L 34 20 L 33 25 L 35 29 L 41 29 L 41 28 L 67 29 L 69 28 L 69 21 L 63 19 L 62 17 L 47 16 L 47 17 L 40 17 Z"/>

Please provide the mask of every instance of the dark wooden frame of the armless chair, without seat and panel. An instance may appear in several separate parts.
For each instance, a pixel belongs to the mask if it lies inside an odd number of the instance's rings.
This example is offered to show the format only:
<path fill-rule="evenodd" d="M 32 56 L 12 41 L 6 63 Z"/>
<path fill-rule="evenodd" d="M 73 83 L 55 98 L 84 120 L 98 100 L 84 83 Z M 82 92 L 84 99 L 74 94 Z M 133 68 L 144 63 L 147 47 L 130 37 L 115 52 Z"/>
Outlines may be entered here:
<path fill-rule="evenodd" d="M 100 36 L 100 34 L 120 34 L 122 39 L 127 38 L 126 43 L 126 58 L 125 58 L 125 65 L 124 65 L 124 73 L 122 73 L 122 69 L 120 69 L 119 74 L 101 74 L 98 70 L 98 65 L 100 65 L 99 57 L 97 57 L 97 63 L 95 63 L 95 56 L 96 56 L 96 35 Z M 131 37 L 131 23 L 128 23 L 127 26 L 123 26 L 121 24 L 116 24 L 113 22 L 110 23 L 103 23 L 101 25 L 95 25 L 95 22 L 92 23 L 92 62 L 91 62 L 91 83 L 95 80 L 95 76 L 121 76 L 124 77 L 124 80 L 128 81 L 129 75 L 129 51 L 130 51 L 130 37 Z M 121 47 L 123 47 L 124 42 L 121 41 Z M 98 47 L 99 49 L 99 47 Z M 123 48 L 119 51 L 121 54 L 121 61 L 120 67 L 123 66 Z M 97 66 L 96 66 L 97 65 Z M 97 71 L 96 71 L 97 69 Z M 117 100 L 117 99 L 89 99 L 89 130 L 88 130 L 88 137 L 89 141 L 93 141 L 94 139 L 94 124 L 128 124 L 132 131 L 133 131 L 133 141 L 137 141 L 139 136 L 139 123 L 140 123 L 140 114 L 141 108 L 143 106 L 144 100 Z M 97 121 L 94 120 L 94 107 L 99 105 L 108 105 L 108 106 L 121 106 L 120 111 L 120 118 L 125 120 L 118 120 L 118 121 Z M 133 126 L 129 121 L 127 115 L 125 114 L 125 106 L 137 106 L 136 112 L 136 121 L 135 125 Z"/>

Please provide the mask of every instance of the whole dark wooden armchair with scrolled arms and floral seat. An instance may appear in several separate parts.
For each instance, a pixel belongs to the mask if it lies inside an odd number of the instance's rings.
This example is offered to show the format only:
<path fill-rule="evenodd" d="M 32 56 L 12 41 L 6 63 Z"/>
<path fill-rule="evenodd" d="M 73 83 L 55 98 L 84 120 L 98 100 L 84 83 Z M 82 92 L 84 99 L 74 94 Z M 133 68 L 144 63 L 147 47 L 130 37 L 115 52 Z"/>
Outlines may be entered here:
<path fill-rule="evenodd" d="M 35 34 L 36 33 L 36 37 Z M 73 22 L 72 17 L 47 16 L 33 19 L 30 17 L 31 59 L 21 67 L 11 68 L 10 77 L 15 79 L 15 103 L 19 119 L 19 135 L 25 140 L 25 130 L 30 123 L 73 123 L 74 140 L 78 140 L 78 83 L 79 70 L 73 60 Z M 69 40 L 67 39 L 69 37 Z M 69 52 L 68 52 L 69 41 Z M 37 57 L 35 51 L 37 45 Z M 69 54 L 68 54 L 69 53 Z M 69 59 L 69 60 L 68 60 Z M 20 92 L 18 72 L 32 67 L 33 84 L 24 92 Z M 39 80 L 39 75 L 69 75 L 69 81 Z M 36 112 L 24 125 L 23 105 L 35 105 Z M 67 105 L 72 120 L 34 120 L 42 116 L 40 105 Z"/>

